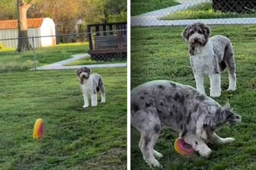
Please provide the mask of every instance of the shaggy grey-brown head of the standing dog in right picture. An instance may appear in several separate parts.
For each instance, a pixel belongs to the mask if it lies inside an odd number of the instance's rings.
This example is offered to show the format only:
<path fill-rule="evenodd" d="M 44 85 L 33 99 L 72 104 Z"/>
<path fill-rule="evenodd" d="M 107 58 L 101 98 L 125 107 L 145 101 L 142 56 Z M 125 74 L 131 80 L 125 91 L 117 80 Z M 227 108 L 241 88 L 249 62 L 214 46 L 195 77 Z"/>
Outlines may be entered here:
<path fill-rule="evenodd" d="M 182 33 L 182 37 L 188 40 L 190 45 L 196 43 L 204 46 L 211 35 L 211 29 L 204 23 L 194 23 L 188 25 Z"/>

